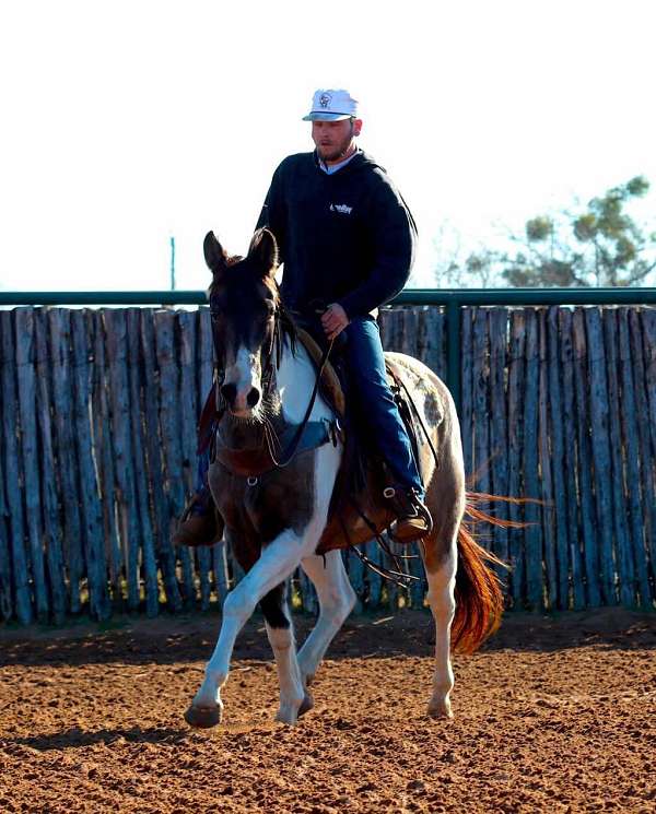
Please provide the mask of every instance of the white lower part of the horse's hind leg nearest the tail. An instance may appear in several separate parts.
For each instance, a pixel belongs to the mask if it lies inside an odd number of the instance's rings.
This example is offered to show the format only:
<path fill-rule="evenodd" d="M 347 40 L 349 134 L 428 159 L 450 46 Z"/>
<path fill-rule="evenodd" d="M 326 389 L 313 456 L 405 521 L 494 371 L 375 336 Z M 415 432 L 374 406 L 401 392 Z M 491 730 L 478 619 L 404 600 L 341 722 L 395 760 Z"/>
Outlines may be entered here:
<path fill-rule="evenodd" d="M 454 671 L 450 664 L 450 626 L 456 611 L 454 590 L 456 587 L 455 550 L 442 563 L 438 570 L 431 574 L 427 600 L 435 620 L 435 672 L 433 693 L 429 701 L 429 715 L 433 718 L 452 718 L 449 693 L 454 686 Z"/>

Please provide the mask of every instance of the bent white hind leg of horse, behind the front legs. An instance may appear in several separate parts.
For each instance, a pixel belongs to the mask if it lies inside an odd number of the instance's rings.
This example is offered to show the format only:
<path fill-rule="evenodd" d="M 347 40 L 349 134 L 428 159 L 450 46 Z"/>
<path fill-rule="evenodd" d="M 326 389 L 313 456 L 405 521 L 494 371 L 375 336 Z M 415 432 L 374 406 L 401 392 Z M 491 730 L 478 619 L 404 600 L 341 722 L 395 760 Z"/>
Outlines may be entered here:
<path fill-rule="evenodd" d="M 313 581 L 319 599 L 319 618 L 298 653 L 301 675 L 307 687 L 328 645 L 353 610 L 356 597 L 339 551 L 330 551 L 325 557 L 305 557 L 301 567 Z"/>

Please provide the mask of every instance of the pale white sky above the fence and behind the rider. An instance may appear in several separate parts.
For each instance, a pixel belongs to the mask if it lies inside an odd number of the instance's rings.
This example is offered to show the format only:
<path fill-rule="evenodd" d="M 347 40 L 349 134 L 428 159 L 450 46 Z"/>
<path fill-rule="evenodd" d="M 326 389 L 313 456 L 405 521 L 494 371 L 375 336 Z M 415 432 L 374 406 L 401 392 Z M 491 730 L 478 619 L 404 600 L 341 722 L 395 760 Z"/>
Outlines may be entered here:
<path fill-rule="evenodd" d="M 0 288 L 204 288 L 202 238 L 247 248 L 271 174 L 312 149 L 316 87 L 420 228 L 493 224 L 656 185 L 649 0 L 2 0 Z M 642 211 L 654 212 L 656 193 Z"/>

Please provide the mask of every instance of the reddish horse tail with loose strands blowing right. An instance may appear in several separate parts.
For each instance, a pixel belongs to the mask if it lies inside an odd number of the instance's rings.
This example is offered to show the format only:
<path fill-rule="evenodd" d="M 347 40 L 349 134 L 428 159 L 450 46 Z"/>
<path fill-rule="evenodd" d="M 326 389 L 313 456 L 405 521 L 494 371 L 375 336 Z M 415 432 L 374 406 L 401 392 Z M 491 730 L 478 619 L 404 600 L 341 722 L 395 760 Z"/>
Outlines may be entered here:
<path fill-rule="evenodd" d="M 526 503 L 523 498 L 499 497 L 477 492 L 467 493 L 465 514 L 473 521 L 485 521 L 503 528 L 523 528 L 525 523 L 500 520 L 481 511 L 473 504 L 502 500 Z M 503 593 L 497 574 L 490 567 L 508 568 L 492 552 L 479 545 L 467 521 L 458 529 L 458 568 L 456 571 L 456 615 L 452 625 L 452 650 L 472 653 L 501 624 Z"/>

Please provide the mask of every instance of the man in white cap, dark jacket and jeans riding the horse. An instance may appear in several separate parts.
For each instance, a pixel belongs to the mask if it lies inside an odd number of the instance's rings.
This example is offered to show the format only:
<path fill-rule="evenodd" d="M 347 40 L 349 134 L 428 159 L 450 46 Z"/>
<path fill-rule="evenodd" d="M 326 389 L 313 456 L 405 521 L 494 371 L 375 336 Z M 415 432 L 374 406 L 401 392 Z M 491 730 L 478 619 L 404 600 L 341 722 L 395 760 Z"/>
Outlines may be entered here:
<path fill-rule="evenodd" d="M 376 309 L 393 299 L 412 268 L 417 228 L 385 169 L 355 143 L 358 102 L 343 90 L 318 90 L 311 113 L 312 153 L 290 155 L 273 174 L 258 221 L 276 236 L 285 307 L 317 321 L 328 341 L 344 332 L 350 394 L 365 415 L 396 481 L 390 531 L 400 542 L 424 536 L 431 518 L 412 446 L 387 384 Z M 221 539 L 223 528 L 207 486 L 179 523 L 176 544 Z"/>

